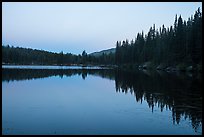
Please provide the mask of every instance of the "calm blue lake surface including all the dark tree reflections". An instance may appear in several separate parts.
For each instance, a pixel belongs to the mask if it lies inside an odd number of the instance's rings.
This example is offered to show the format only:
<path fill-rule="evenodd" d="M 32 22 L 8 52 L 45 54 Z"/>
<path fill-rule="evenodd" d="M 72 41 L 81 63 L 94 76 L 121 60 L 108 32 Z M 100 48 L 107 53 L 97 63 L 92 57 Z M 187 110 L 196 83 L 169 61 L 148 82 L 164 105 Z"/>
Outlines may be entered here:
<path fill-rule="evenodd" d="M 165 72 L 2 69 L 2 134 L 202 134 L 202 79 Z"/>

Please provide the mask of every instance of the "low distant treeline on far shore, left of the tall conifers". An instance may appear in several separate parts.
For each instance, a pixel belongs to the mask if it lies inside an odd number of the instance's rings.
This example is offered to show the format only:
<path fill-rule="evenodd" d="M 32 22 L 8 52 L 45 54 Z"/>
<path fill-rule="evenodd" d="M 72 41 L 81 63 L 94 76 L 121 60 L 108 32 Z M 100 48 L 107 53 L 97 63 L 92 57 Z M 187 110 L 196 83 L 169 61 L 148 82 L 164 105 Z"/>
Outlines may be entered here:
<path fill-rule="evenodd" d="M 73 64 L 93 64 L 108 65 L 114 64 L 113 53 L 102 54 L 99 57 L 91 56 L 84 50 L 82 54 L 53 53 L 44 50 L 31 48 L 13 47 L 2 45 L 2 63 L 15 65 L 73 65 Z"/>

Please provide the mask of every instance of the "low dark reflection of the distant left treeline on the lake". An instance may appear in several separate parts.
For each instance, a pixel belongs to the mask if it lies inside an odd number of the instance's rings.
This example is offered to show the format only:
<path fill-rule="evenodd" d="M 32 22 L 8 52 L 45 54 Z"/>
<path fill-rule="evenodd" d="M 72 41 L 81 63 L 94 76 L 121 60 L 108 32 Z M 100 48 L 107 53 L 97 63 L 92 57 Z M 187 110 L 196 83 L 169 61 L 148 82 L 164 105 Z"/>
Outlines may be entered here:
<path fill-rule="evenodd" d="M 2 81 L 32 80 L 51 76 L 63 78 L 73 75 L 81 75 L 85 80 L 88 74 L 114 79 L 113 70 L 107 69 L 2 69 Z"/>

